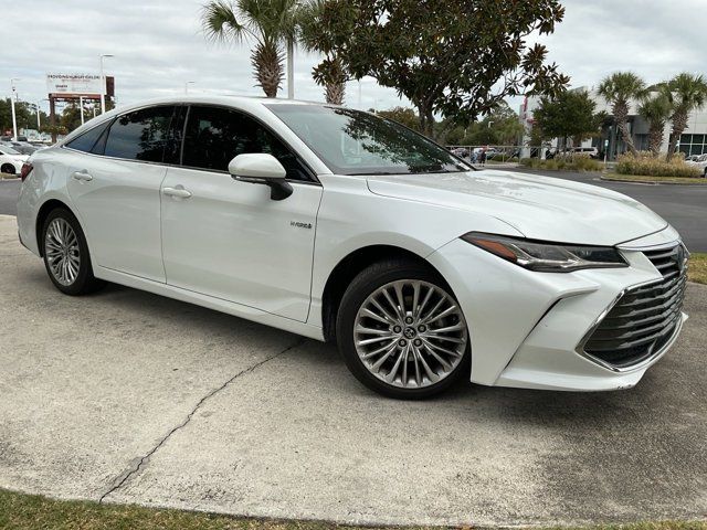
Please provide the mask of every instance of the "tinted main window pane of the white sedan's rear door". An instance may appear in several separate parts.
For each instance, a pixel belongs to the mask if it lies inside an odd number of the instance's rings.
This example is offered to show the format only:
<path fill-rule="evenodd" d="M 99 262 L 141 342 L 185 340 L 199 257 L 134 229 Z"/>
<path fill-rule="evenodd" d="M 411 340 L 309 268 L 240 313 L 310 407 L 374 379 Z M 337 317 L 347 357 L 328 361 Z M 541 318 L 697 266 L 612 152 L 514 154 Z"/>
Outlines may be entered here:
<path fill-rule="evenodd" d="M 165 157 L 175 107 L 143 108 L 116 118 L 108 130 L 105 156 L 161 162 Z"/>

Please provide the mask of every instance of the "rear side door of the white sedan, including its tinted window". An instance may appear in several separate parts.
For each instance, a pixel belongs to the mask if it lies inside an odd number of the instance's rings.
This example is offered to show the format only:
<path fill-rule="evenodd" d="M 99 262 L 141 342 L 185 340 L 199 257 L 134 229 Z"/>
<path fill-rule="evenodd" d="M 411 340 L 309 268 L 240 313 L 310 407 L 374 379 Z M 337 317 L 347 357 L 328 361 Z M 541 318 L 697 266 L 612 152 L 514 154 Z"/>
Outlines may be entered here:
<path fill-rule="evenodd" d="M 165 282 L 159 190 L 176 110 L 134 110 L 66 146 L 68 192 L 102 267 Z"/>

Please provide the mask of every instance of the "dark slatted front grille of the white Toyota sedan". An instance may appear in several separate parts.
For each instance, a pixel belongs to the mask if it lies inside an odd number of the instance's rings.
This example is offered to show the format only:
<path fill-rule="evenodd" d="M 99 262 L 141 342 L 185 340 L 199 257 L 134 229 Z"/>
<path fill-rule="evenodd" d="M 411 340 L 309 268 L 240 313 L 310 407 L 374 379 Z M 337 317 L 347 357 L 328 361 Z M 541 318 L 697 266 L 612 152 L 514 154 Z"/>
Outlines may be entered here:
<path fill-rule="evenodd" d="M 584 352 L 618 369 L 659 352 L 680 324 L 687 266 L 677 244 L 643 254 L 663 279 L 626 290 L 584 342 Z"/>

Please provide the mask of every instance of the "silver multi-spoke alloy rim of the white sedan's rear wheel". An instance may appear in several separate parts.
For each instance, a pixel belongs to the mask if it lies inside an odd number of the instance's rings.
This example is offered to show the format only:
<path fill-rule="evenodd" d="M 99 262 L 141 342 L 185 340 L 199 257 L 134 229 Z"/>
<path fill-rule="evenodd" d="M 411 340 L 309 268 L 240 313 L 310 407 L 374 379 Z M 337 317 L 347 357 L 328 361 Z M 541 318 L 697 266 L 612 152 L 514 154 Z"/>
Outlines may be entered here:
<path fill-rule="evenodd" d="M 54 279 L 65 286 L 72 285 L 81 269 L 81 251 L 78 237 L 65 219 L 56 218 L 46 227 L 44 252 Z"/>

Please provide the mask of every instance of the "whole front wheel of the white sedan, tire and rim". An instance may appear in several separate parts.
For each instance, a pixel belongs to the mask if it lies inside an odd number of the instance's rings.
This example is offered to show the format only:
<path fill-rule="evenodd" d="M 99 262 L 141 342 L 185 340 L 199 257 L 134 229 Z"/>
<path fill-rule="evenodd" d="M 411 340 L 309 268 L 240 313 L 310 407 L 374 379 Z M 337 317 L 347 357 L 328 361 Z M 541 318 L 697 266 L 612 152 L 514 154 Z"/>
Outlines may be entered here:
<path fill-rule="evenodd" d="M 429 398 L 468 370 L 464 314 L 444 280 L 414 262 L 381 262 L 351 282 L 337 340 L 354 375 L 390 398 Z"/>

